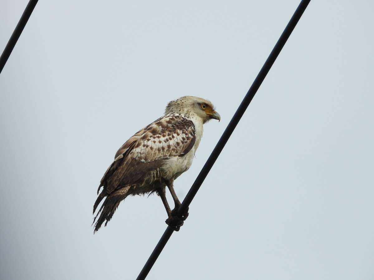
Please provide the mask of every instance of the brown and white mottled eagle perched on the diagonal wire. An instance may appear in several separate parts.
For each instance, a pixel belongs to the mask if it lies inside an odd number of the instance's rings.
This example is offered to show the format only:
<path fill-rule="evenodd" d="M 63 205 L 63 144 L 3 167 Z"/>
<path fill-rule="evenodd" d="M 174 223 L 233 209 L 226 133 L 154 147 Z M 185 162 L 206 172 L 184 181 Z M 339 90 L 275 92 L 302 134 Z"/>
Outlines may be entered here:
<path fill-rule="evenodd" d="M 191 167 L 203 134 L 203 124 L 210 119 L 221 120 L 211 102 L 183 96 L 168 103 L 165 115 L 130 137 L 119 148 L 100 181 L 93 214 L 105 199 L 92 223 L 95 224 L 94 233 L 104 221 L 107 225 L 127 196 L 151 193 L 161 197 L 168 213 L 165 222 L 178 231 L 188 210 L 182 217 L 177 217 L 181 202 L 174 191 L 174 180 Z M 174 200 L 173 210 L 166 200 L 166 186 Z"/>

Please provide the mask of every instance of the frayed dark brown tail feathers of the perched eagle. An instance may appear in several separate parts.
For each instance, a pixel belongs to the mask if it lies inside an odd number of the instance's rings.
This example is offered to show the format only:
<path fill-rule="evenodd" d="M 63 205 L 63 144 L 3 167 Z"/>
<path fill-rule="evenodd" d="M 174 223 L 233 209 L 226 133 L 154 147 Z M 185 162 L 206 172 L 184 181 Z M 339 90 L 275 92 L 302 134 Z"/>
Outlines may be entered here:
<path fill-rule="evenodd" d="M 98 198 L 96 199 L 95 205 L 93 205 L 93 212 L 95 213 L 96 208 L 98 207 L 101 200 L 105 198 L 104 202 L 102 203 L 99 211 L 97 212 L 95 218 L 93 219 L 93 223 L 95 224 L 95 228 L 93 230 L 93 233 L 99 230 L 101 225 L 105 221 L 105 225 L 107 225 L 108 221 L 113 217 L 114 212 L 116 211 L 119 203 L 128 196 L 128 190 L 130 189 L 130 186 L 123 187 L 111 194 L 107 194 L 105 190 L 102 190 Z M 97 221 L 96 221 L 97 219 Z M 95 223 L 96 221 L 96 223 Z"/>

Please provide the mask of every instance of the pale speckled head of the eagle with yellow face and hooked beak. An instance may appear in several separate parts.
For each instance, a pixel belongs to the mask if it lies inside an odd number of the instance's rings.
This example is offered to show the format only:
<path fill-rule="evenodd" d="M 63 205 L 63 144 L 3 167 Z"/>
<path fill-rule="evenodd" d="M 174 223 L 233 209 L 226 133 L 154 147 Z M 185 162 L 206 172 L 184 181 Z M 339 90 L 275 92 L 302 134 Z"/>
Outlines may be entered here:
<path fill-rule="evenodd" d="M 191 111 L 202 118 L 204 124 L 211 119 L 221 120 L 220 114 L 214 110 L 210 101 L 196 96 L 183 96 L 169 102 L 165 114 L 182 113 L 187 115 Z"/>

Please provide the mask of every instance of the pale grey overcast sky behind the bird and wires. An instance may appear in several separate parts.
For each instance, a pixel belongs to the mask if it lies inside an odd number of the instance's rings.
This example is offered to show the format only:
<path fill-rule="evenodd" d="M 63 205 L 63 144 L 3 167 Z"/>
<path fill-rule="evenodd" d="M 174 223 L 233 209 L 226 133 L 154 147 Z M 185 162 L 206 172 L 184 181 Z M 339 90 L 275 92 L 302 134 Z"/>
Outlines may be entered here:
<path fill-rule="evenodd" d="M 27 3 L 1 1 L 1 51 Z M 0 74 L 0 278 L 135 279 L 167 216 L 128 197 L 93 235 L 114 154 L 211 100 L 183 199 L 298 4 L 39 1 Z M 147 279 L 374 279 L 373 10 L 311 1 Z"/>

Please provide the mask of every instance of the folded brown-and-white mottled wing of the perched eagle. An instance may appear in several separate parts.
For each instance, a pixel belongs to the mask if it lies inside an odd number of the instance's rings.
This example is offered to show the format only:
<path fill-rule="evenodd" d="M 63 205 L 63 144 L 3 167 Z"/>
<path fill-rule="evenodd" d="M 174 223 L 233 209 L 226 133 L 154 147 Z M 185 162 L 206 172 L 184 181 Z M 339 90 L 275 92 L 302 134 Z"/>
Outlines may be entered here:
<path fill-rule="evenodd" d="M 180 115 L 157 119 L 123 144 L 100 187 L 109 194 L 119 187 L 141 184 L 164 159 L 186 155 L 195 137 L 193 122 Z"/>

